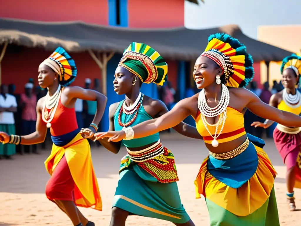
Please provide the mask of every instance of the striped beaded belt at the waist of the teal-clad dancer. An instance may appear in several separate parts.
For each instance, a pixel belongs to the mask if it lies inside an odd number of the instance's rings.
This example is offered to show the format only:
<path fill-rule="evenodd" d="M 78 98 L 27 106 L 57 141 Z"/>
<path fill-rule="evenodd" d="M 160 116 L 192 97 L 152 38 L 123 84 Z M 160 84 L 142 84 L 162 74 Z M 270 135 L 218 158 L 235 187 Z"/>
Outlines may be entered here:
<path fill-rule="evenodd" d="M 162 145 L 160 139 L 154 145 L 140 150 L 140 151 L 130 151 L 126 148 L 129 154 L 129 158 L 134 162 L 145 162 L 149 159 L 154 159 L 155 157 L 162 155 L 164 153 L 164 146 Z"/>

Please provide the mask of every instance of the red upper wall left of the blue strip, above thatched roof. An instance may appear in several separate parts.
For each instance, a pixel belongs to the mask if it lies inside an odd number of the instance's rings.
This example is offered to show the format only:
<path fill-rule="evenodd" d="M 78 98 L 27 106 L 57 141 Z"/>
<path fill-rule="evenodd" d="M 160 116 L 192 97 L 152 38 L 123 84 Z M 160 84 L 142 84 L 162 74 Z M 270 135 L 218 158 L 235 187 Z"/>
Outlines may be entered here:
<path fill-rule="evenodd" d="M 74 21 L 108 25 L 107 0 L 1 1 L 0 17 L 38 21 Z"/>

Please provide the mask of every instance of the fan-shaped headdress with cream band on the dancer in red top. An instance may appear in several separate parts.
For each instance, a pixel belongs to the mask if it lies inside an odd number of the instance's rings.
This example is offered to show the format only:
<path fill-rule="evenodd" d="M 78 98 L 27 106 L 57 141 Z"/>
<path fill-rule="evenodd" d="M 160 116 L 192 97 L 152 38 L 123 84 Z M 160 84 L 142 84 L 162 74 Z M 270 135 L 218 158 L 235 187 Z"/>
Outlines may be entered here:
<path fill-rule="evenodd" d="M 75 62 L 62 47 L 58 47 L 41 64 L 47 65 L 59 75 L 61 86 L 69 86 L 76 78 Z"/>

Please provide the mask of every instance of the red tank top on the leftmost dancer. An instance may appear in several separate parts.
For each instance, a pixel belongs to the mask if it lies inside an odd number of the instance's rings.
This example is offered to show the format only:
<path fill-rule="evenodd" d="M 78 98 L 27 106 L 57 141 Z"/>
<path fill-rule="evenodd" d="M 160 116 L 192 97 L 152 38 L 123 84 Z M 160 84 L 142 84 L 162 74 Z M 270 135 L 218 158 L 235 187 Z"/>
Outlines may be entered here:
<path fill-rule="evenodd" d="M 51 109 L 45 108 L 50 112 Z M 43 112 L 42 112 L 43 114 Z M 54 117 L 51 120 L 50 133 L 51 136 L 61 136 L 70 133 L 78 128 L 76 121 L 75 108 L 66 108 L 59 99 Z"/>

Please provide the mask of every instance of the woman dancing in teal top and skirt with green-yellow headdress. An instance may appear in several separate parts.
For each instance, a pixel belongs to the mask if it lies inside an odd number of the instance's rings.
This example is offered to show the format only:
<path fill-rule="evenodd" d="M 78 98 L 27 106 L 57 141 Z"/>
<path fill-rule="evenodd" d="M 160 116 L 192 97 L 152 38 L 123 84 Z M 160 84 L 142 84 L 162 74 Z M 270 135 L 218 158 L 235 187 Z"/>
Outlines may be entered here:
<path fill-rule="evenodd" d="M 125 94 L 125 100 L 110 105 L 109 130 L 127 130 L 168 111 L 163 102 L 140 92 L 142 83 L 163 85 L 167 80 L 167 64 L 150 46 L 131 43 L 114 76 L 114 91 Z M 202 138 L 195 127 L 184 123 L 174 129 L 188 137 Z M 107 140 L 99 141 L 111 152 L 118 153 L 121 145 L 128 152 L 121 160 L 111 226 L 125 225 L 130 214 L 159 218 L 175 225 L 194 225 L 181 203 L 174 156 L 160 142 L 159 133 L 117 143 Z"/>

